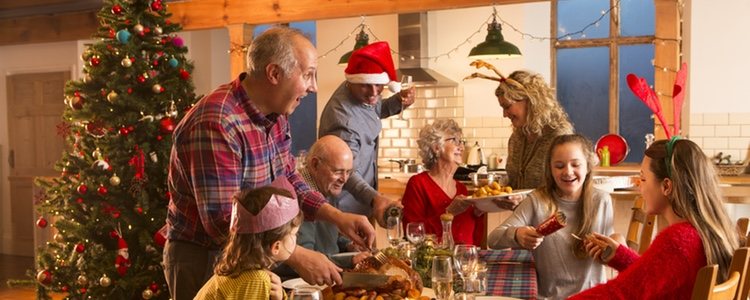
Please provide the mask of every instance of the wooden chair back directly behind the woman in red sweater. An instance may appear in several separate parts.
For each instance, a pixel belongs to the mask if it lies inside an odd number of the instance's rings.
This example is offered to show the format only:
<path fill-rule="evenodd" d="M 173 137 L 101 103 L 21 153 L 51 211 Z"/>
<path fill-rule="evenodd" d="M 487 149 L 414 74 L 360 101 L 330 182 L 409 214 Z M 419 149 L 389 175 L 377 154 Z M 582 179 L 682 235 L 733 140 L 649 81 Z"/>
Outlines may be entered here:
<path fill-rule="evenodd" d="M 716 283 L 719 273 L 718 265 L 710 265 L 701 268 L 695 278 L 693 287 L 693 300 L 733 300 L 737 293 L 737 285 L 740 282 L 740 273 L 731 272 L 729 279 L 720 284 Z"/>

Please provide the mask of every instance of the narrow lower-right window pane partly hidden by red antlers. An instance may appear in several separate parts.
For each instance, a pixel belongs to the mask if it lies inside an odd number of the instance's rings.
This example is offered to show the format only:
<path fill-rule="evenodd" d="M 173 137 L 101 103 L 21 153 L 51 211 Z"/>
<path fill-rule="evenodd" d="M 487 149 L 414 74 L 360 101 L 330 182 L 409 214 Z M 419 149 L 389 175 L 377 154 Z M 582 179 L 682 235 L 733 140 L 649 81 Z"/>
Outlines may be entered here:
<path fill-rule="evenodd" d="M 654 58 L 654 45 L 620 46 L 619 51 L 620 135 L 630 145 L 630 153 L 625 161 L 641 162 L 643 151 L 646 150 L 645 135 L 654 132 L 654 121 L 651 119 L 651 110 L 630 91 L 626 76 L 633 73 L 653 84 L 654 68 L 651 60 Z"/>

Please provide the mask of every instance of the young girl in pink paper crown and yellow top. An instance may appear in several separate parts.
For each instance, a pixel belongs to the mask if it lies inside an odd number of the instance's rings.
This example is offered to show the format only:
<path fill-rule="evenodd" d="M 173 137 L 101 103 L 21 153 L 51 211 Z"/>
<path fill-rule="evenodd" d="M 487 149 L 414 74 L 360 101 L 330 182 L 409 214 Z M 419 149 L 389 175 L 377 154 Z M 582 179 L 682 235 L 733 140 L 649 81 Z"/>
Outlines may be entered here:
<path fill-rule="evenodd" d="M 270 269 L 291 256 L 302 214 L 288 182 L 234 196 L 229 241 L 195 299 L 285 299 Z"/>

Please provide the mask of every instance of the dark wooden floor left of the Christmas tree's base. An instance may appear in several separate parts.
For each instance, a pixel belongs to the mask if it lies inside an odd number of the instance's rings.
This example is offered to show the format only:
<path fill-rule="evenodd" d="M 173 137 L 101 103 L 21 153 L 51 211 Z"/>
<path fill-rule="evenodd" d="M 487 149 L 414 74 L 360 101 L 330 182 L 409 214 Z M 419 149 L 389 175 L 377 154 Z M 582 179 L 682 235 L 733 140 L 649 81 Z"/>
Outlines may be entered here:
<path fill-rule="evenodd" d="M 10 288 L 8 279 L 29 279 L 26 270 L 34 268 L 34 258 L 0 254 L 0 300 L 35 299 L 34 287 Z M 62 299 L 62 296 L 53 296 Z"/>

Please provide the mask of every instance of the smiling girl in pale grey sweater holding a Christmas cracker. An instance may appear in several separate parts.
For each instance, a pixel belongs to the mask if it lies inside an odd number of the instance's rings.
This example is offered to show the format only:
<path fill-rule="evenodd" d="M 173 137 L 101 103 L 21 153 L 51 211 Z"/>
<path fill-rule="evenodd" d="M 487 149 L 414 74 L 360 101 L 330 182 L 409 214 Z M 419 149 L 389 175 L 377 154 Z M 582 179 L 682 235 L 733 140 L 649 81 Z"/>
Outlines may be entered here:
<path fill-rule="evenodd" d="M 597 162 L 592 149 L 591 142 L 577 134 L 555 137 L 544 161 L 542 186 L 488 237 L 491 248 L 532 251 L 540 299 L 564 299 L 607 280 L 604 266 L 586 256 L 583 243 L 573 236 L 613 232 L 612 199 L 592 183 Z M 564 227 L 553 233 L 544 230 L 550 228 L 545 222 L 550 216 L 560 215 L 564 221 L 557 224 Z"/>

